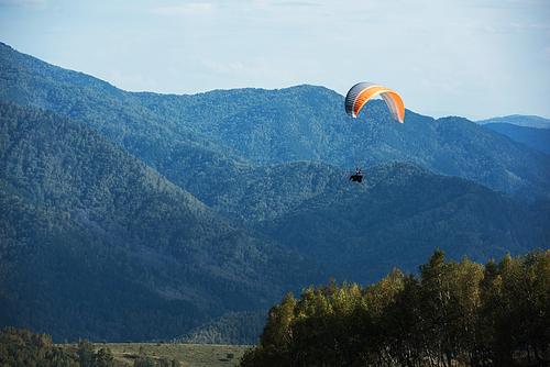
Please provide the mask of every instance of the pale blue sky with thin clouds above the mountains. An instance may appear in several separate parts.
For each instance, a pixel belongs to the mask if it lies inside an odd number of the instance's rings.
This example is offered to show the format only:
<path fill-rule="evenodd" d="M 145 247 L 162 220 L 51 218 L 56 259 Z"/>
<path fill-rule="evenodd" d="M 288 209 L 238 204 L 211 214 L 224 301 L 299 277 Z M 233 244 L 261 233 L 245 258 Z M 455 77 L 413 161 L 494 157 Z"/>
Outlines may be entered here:
<path fill-rule="evenodd" d="M 549 0 L 199 1 L 0 0 L 0 42 L 129 91 L 371 81 L 433 118 L 550 119 Z"/>

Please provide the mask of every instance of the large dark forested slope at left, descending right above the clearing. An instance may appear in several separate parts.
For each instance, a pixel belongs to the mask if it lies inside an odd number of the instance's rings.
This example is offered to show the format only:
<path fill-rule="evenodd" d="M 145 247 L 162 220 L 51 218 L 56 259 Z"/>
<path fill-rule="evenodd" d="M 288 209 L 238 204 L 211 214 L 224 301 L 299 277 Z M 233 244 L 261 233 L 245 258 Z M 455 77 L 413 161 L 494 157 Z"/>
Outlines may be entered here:
<path fill-rule="evenodd" d="M 339 273 L 227 220 L 82 124 L 0 103 L 1 323 L 172 337 Z"/>

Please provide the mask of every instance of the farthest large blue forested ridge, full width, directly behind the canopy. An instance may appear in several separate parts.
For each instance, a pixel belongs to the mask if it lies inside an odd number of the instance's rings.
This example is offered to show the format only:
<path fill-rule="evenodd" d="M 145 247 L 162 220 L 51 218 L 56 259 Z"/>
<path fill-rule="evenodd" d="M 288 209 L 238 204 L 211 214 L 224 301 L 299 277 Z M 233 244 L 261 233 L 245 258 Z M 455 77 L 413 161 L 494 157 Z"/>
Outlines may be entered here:
<path fill-rule="evenodd" d="M 465 119 L 433 120 L 407 111 L 405 123 L 396 124 L 384 103 L 374 101 L 353 120 L 343 111 L 342 96 L 314 86 L 193 96 L 130 93 L 6 45 L 0 62 L 1 100 L 81 121 L 163 174 L 180 164 L 174 156 L 193 146 L 260 164 L 306 159 L 353 169 L 358 163 L 366 167 L 408 160 L 506 193 L 550 196 L 548 155 Z M 200 167 L 208 164 L 200 162 Z M 172 174 L 166 176 L 173 181 L 187 180 Z M 183 188 L 202 200 L 200 192 Z"/>

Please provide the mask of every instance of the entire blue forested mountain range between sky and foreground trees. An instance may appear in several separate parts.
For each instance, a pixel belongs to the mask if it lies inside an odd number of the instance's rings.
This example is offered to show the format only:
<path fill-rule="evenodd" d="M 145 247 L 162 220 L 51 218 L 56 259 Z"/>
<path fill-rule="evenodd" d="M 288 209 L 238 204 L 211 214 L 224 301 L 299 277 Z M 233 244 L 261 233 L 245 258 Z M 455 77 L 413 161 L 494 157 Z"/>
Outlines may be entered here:
<path fill-rule="evenodd" d="M 550 156 L 466 119 L 351 119 L 316 86 L 128 92 L 4 44 L 0 101 L 2 326 L 175 338 L 436 248 L 549 246 Z"/>

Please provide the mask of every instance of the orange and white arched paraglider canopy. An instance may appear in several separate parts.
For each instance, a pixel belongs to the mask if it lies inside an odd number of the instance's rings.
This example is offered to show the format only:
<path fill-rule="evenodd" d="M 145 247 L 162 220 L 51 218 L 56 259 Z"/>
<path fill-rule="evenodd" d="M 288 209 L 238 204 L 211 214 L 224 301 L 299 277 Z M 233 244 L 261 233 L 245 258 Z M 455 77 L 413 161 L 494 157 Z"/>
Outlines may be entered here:
<path fill-rule="evenodd" d="M 405 120 L 405 104 L 399 94 L 397 94 L 392 89 L 372 84 L 372 82 L 359 82 L 351 87 L 345 96 L 345 112 L 352 116 L 356 118 L 359 111 L 365 103 L 375 96 L 381 96 L 386 102 L 392 118 L 396 122 L 403 123 Z"/>

